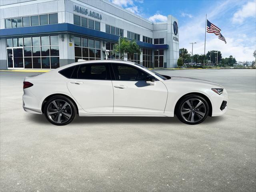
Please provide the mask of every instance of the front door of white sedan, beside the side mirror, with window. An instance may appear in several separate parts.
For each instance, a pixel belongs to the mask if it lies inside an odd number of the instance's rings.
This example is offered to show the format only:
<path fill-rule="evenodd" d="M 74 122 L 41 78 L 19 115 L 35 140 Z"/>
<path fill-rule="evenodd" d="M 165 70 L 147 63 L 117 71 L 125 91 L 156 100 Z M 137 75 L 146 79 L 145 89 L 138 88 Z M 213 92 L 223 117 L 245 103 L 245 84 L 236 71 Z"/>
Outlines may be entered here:
<path fill-rule="evenodd" d="M 146 83 L 149 75 L 128 64 L 112 63 L 114 80 L 114 113 L 164 113 L 167 89 L 156 80 L 155 85 Z"/>

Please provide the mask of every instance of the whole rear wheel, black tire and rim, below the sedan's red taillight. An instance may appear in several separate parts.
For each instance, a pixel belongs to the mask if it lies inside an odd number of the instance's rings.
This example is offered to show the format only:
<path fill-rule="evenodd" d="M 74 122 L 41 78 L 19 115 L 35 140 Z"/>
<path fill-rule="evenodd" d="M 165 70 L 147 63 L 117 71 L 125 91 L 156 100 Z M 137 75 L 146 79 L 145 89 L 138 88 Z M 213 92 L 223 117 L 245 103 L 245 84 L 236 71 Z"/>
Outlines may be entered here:
<path fill-rule="evenodd" d="M 76 105 L 65 96 L 53 96 L 44 105 L 44 115 L 54 125 L 69 124 L 76 118 L 76 113 Z"/>

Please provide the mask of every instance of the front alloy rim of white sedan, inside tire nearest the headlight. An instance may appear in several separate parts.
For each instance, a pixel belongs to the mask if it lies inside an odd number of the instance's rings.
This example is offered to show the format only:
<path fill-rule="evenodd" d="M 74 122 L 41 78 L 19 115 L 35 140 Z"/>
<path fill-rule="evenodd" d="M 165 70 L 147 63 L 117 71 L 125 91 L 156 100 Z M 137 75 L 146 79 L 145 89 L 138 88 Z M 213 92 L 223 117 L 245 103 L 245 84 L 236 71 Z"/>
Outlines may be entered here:
<path fill-rule="evenodd" d="M 188 99 L 182 104 L 180 114 L 185 121 L 195 123 L 206 115 L 206 106 L 200 99 Z"/>

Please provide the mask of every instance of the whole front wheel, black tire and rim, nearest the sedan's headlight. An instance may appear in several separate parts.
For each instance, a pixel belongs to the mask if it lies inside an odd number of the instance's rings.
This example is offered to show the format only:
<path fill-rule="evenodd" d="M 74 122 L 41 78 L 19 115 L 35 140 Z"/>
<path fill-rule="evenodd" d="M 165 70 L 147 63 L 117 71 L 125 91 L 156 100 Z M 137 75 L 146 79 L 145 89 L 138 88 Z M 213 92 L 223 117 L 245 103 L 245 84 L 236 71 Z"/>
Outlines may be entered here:
<path fill-rule="evenodd" d="M 209 104 L 202 96 L 187 95 L 178 102 L 175 114 L 183 123 L 190 125 L 199 124 L 207 118 Z"/>

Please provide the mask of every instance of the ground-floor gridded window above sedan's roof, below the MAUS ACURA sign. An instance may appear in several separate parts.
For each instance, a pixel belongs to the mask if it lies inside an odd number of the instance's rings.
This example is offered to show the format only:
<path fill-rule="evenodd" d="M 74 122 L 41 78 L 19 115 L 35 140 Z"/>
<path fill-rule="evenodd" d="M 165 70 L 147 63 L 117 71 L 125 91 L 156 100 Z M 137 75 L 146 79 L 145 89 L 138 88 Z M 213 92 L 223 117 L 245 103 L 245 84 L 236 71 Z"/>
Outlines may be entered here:
<path fill-rule="evenodd" d="M 100 40 L 74 36 L 75 45 L 75 61 L 83 60 L 97 60 L 101 58 L 100 55 Z"/>

